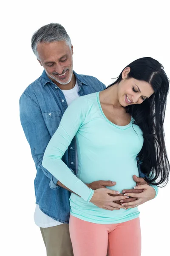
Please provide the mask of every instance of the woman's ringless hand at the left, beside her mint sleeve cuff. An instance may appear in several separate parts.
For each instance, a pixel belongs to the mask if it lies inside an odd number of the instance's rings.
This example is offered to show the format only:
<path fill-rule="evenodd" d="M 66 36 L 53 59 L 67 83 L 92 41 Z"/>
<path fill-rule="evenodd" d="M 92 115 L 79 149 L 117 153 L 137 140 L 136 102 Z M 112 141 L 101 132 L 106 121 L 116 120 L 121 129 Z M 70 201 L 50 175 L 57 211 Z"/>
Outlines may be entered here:
<path fill-rule="evenodd" d="M 115 197 L 113 198 L 114 195 Z M 94 190 L 94 194 L 90 200 L 91 203 L 95 204 L 97 207 L 106 209 L 106 210 L 119 210 L 126 209 L 126 207 L 121 206 L 120 204 L 116 204 L 114 201 L 120 201 L 121 199 L 125 199 L 127 196 L 119 195 L 119 191 L 111 190 L 111 189 L 96 189 Z"/>

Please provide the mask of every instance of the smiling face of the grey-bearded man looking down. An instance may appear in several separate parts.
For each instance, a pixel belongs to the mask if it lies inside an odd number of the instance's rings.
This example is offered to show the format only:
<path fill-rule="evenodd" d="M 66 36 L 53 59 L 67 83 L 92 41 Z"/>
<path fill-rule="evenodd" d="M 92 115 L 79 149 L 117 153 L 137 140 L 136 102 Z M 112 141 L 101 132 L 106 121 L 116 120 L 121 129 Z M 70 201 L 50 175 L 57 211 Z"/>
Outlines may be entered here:
<path fill-rule="evenodd" d="M 65 41 L 39 43 L 37 45 L 38 61 L 52 81 L 68 84 L 73 74 L 73 46 L 71 49 Z"/>

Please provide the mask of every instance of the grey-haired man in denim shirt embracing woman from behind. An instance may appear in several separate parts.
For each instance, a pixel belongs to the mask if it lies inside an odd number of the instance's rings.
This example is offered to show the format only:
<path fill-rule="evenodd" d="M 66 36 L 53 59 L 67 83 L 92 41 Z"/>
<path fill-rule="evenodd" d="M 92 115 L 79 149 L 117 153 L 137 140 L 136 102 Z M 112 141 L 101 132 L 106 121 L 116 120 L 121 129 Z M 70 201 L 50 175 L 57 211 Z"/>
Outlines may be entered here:
<path fill-rule="evenodd" d="M 44 68 L 42 75 L 20 97 L 20 120 L 37 169 L 34 221 L 40 227 L 48 256 L 72 256 L 68 230 L 70 192 L 42 166 L 42 158 L 68 105 L 79 96 L 105 89 L 105 85 L 95 77 L 78 75 L 73 71 L 73 46 L 60 24 L 41 27 L 32 36 L 31 46 Z M 76 173 L 75 138 L 62 160 Z M 135 179 L 143 182 L 142 178 Z M 97 189 L 114 184 L 101 180 L 87 186 Z M 116 205 L 121 207 L 119 201 Z"/>

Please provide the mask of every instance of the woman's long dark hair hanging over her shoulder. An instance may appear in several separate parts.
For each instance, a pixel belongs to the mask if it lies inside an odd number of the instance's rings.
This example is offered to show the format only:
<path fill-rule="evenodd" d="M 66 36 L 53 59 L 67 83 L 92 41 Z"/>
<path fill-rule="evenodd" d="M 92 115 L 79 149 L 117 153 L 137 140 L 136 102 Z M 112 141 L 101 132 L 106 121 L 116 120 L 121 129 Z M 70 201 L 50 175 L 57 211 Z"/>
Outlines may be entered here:
<path fill-rule="evenodd" d="M 144 144 L 138 154 L 141 171 L 147 175 L 146 180 L 150 184 L 165 186 L 170 172 L 163 128 L 169 79 L 159 61 L 150 57 L 139 58 L 127 67 L 130 67 L 127 79 L 146 81 L 154 90 L 153 95 L 142 104 L 126 108 L 133 116 L 134 124 L 139 125 L 143 132 Z M 113 84 L 122 80 L 122 72 Z"/>

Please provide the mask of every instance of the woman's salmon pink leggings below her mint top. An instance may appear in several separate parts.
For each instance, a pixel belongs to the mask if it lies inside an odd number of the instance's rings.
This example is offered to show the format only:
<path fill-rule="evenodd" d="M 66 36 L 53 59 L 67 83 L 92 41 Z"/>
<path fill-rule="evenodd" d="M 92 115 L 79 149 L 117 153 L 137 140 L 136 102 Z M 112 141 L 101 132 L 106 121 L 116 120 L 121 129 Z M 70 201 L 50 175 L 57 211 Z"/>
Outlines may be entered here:
<path fill-rule="evenodd" d="M 71 215 L 69 229 L 74 256 L 141 255 L 139 218 L 119 224 L 96 224 Z"/>

